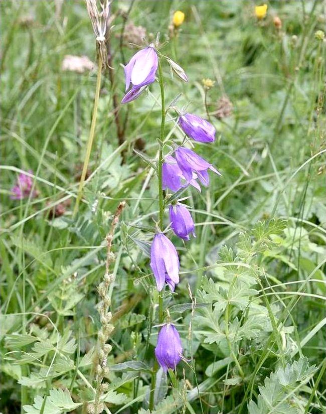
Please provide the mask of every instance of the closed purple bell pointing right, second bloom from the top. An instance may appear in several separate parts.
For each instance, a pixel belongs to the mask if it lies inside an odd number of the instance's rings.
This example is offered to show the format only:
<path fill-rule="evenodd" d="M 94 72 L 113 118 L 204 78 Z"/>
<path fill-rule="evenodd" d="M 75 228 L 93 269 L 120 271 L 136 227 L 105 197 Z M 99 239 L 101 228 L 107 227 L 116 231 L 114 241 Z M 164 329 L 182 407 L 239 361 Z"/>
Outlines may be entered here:
<path fill-rule="evenodd" d="M 215 141 L 215 128 L 207 120 L 200 116 L 186 113 L 179 118 L 179 125 L 193 140 L 201 143 L 212 143 Z"/>

